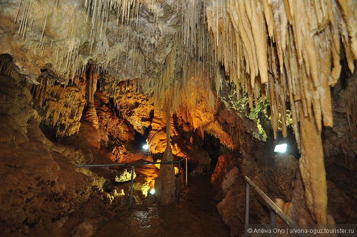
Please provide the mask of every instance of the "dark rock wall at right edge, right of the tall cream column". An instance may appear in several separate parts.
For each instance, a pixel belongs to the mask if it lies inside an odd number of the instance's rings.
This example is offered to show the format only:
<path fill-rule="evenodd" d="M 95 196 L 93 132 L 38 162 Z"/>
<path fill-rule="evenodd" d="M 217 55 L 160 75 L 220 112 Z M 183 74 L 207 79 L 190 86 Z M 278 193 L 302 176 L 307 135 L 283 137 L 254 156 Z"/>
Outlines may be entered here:
<path fill-rule="evenodd" d="M 322 143 L 327 180 L 327 209 L 336 223 L 357 222 L 357 70 L 342 70 L 331 91 L 333 127 Z"/>

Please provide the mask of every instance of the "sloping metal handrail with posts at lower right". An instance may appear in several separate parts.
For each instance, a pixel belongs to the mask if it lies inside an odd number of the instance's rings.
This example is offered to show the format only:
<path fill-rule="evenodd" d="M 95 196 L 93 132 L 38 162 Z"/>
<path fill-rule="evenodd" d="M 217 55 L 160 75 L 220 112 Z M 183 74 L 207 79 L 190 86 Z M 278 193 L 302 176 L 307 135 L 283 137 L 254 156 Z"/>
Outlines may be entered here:
<path fill-rule="evenodd" d="M 271 199 L 266 196 L 266 194 L 259 189 L 256 184 L 254 184 L 249 177 L 244 176 L 244 179 L 247 181 L 246 184 L 246 216 L 245 216 L 245 226 L 244 226 L 244 235 L 248 236 L 248 225 L 249 225 L 249 185 L 251 185 L 255 191 L 259 194 L 260 197 L 264 200 L 266 204 L 270 207 L 270 228 L 276 228 L 276 215 L 278 215 L 281 220 L 289 226 L 291 229 L 301 229 L 287 214 L 285 214 L 276 204 L 271 201 Z M 299 237 L 307 237 L 303 231 L 298 231 L 296 233 Z"/>

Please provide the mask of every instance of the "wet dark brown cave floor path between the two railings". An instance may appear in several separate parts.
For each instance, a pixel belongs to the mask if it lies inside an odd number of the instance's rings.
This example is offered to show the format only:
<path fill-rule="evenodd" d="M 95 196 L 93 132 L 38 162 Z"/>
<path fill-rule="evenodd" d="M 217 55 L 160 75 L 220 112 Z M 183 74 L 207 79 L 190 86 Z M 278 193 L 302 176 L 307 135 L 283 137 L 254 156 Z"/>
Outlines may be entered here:
<path fill-rule="evenodd" d="M 230 236 L 215 207 L 210 175 L 188 182 L 179 208 L 172 204 L 118 214 L 92 236 Z"/>

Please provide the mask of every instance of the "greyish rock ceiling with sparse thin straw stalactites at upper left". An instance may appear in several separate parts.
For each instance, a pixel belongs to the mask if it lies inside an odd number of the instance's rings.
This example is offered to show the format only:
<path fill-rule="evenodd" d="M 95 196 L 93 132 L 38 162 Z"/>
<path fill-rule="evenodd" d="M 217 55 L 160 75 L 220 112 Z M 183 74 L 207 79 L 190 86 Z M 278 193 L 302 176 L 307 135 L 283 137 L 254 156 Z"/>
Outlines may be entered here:
<path fill-rule="evenodd" d="M 180 19 L 174 2 L 20 2 L 1 8 L 0 53 L 12 53 L 34 82 L 48 63 L 65 83 L 93 62 L 120 80 L 157 77 Z"/>

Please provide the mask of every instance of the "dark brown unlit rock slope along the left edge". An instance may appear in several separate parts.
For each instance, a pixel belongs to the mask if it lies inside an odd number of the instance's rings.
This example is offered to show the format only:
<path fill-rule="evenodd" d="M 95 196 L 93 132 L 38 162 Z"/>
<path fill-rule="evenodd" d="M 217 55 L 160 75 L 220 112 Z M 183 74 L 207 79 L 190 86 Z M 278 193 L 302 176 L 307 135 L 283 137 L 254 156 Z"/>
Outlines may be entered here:
<path fill-rule="evenodd" d="M 4 235 L 27 235 L 29 228 L 56 222 L 87 201 L 93 179 L 76 172 L 70 160 L 78 152 L 43 135 L 25 77 L 9 56 L 0 61 L 0 228 Z"/>

